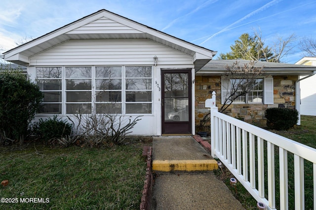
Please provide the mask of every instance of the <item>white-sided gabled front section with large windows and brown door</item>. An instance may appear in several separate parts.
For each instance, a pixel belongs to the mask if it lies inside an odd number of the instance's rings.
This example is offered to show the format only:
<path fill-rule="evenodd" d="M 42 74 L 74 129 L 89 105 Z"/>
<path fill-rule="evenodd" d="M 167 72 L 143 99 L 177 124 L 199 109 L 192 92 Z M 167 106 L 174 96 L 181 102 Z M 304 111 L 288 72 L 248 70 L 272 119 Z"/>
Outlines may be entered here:
<path fill-rule="evenodd" d="M 44 93 L 36 119 L 142 115 L 133 135 L 195 134 L 195 72 L 216 52 L 100 10 L 3 54 Z"/>

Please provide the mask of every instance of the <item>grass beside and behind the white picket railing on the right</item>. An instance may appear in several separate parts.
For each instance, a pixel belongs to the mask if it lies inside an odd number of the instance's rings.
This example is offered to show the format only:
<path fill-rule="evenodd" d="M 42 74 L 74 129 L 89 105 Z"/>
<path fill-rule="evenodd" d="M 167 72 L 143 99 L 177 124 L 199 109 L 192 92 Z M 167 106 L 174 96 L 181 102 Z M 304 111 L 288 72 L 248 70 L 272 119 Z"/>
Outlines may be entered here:
<path fill-rule="evenodd" d="M 316 116 L 301 116 L 301 126 L 295 126 L 288 131 L 271 131 L 283 137 L 291 140 L 298 141 L 305 145 L 316 148 Z M 266 150 L 266 143 L 265 143 Z M 265 172 L 267 172 L 267 151 L 265 151 Z M 276 169 L 276 209 L 279 209 L 279 171 L 278 171 L 278 147 L 275 146 L 275 169 Z M 289 209 L 294 209 L 294 155 L 288 152 L 288 193 L 289 193 Z M 257 167 L 257 166 L 256 166 Z M 220 170 L 214 171 L 218 178 L 222 179 L 226 185 L 235 194 L 235 188 L 230 185 L 230 178 L 233 175 L 224 168 L 224 174 Z M 309 161 L 304 161 L 304 179 L 305 179 L 305 209 L 313 209 L 313 164 Z M 266 198 L 267 193 L 267 175 L 265 177 L 265 189 Z M 237 200 L 244 206 L 246 210 L 255 210 L 256 201 L 247 192 L 247 190 L 238 182 L 237 194 L 235 194 Z"/>

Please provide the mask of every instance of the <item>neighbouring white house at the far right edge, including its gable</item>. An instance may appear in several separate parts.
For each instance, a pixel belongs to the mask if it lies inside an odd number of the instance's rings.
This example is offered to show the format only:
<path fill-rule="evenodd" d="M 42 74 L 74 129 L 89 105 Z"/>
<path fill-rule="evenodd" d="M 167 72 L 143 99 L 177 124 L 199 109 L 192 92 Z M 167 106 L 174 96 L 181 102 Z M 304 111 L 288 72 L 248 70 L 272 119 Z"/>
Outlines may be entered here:
<path fill-rule="evenodd" d="M 295 64 L 316 66 L 316 57 L 304 57 Z M 316 75 L 301 76 L 301 114 L 316 116 Z"/>

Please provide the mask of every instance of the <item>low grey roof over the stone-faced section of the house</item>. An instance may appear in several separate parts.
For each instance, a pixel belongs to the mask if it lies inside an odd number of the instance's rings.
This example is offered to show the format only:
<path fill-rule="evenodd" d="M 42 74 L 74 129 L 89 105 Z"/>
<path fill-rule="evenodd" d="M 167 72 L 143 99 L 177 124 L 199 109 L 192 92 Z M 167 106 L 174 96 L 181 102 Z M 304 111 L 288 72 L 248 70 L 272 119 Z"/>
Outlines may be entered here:
<path fill-rule="evenodd" d="M 211 60 L 204 67 L 196 72 L 196 75 L 222 75 L 226 71 L 226 67 L 233 66 L 235 62 L 239 65 L 249 64 L 249 60 Z M 308 75 L 316 71 L 316 67 L 273 63 L 258 61 L 255 64 L 256 68 L 263 67 L 263 75 Z"/>

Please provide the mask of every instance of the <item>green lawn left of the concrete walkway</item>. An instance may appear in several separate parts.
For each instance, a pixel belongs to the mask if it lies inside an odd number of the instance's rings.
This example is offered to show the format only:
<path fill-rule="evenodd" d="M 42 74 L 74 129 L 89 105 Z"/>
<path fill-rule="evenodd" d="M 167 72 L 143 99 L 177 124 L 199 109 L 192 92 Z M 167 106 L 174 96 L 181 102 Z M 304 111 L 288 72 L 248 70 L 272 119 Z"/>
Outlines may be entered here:
<path fill-rule="evenodd" d="M 111 148 L 70 146 L 50 148 L 30 144 L 0 147 L 0 209 L 139 209 L 146 162 L 142 149 L 149 141 L 133 140 Z M 21 203 L 23 198 L 46 198 L 49 203 Z"/>

